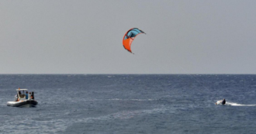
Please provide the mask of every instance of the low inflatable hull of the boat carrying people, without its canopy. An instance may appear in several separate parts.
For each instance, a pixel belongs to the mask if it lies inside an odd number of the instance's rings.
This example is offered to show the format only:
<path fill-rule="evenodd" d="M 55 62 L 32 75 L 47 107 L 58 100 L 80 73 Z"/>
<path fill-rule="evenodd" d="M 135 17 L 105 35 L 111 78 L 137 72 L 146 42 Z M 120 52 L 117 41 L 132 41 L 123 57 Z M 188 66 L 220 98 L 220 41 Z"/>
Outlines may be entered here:
<path fill-rule="evenodd" d="M 37 105 L 37 101 L 35 100 L 8 101 L 7 105 L 12 107 L 35 107 Z"/>

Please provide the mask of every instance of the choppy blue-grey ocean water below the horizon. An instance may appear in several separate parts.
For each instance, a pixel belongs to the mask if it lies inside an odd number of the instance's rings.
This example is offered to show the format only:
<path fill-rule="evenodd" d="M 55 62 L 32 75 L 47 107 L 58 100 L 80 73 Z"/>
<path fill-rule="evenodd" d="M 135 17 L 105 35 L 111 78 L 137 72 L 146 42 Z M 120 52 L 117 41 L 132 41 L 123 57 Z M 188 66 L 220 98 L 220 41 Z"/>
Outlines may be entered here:
<path fill-rule="evenodd" d="M 6 106 L 17 88 L 36 108 Z M 255 133 L 255 94 L 256 75 L 1 74 L 0 133 Z"/>

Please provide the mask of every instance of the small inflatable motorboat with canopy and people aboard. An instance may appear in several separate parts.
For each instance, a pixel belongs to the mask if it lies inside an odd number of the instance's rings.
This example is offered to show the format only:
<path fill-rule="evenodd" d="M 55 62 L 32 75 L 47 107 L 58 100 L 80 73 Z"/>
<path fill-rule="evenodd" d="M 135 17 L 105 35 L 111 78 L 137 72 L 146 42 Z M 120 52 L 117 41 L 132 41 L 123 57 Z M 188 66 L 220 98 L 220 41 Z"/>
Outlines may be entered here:
<path fill-rule="evenodd" d="M 34 97 L 32 95 L 28 95 L 26 98 L 26 94 L 24 94 L 24 91 L 27 91 L 27 89 L 16 89 L 16 99 L 15 101 L 8 101 L 7 105 L 12 107 L 35 107 L 37 105 L 37 101 L 34 100 Z M 23 94 L 21 93 L 23 91 Z"/>

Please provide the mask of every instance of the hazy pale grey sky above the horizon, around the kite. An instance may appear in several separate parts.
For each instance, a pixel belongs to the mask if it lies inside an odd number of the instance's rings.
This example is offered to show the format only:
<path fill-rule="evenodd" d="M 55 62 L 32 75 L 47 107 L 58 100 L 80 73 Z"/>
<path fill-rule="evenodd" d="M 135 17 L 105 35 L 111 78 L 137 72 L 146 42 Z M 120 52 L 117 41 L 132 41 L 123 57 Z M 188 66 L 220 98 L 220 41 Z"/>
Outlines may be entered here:
<path fill-rule="evenodd" d="M 256 74 L 256 1 L 0 1 L 0 74 Z M 131 54 L 130 28 L 142 29 Z"/>

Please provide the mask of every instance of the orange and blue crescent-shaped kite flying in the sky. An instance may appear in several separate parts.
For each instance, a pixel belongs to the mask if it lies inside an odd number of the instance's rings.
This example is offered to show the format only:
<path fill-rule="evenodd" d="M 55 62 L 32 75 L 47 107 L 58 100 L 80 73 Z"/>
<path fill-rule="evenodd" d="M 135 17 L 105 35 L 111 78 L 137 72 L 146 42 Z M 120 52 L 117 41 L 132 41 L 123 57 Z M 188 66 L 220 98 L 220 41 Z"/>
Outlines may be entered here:
<path fill-rule="evenodd" d="M 132 53 L 132 50 L 130 50 L 130 45 L 133 43 L 133 40 L 137 35 L 140 33 L 144 33 L 142 30 L 133 28 L 126 32 L 126 34 L 123 36 L 123 47 L 124 49 L 128 50 L 130 53 Z M 146 33 L 145 33 L 146 34 Z"/>

